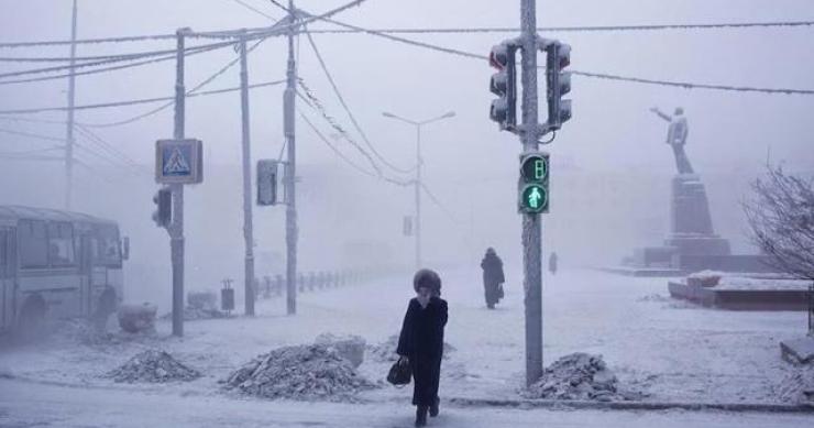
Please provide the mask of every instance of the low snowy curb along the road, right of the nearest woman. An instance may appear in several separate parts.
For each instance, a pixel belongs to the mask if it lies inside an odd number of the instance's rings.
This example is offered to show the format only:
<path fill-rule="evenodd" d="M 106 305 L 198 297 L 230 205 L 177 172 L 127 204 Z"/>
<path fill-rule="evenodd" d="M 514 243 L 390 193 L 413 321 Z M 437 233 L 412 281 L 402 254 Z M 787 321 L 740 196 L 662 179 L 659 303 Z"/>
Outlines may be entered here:
<path fill-rule="evenodd" d="M 446 398 L 453 405 L 517 407 L 517 408 L 550 408 L 550 409 L 592 409 L 592 410 L 692 410 L 692 411 L 759 411 L 759 413 L 790 413 L 814 414 L 814 405 L 800 404 L 762 404 L 762 403 L 671 403 L 671 402 L 586 402 L 564 399 L 486 399 L 486 398 Z"/>

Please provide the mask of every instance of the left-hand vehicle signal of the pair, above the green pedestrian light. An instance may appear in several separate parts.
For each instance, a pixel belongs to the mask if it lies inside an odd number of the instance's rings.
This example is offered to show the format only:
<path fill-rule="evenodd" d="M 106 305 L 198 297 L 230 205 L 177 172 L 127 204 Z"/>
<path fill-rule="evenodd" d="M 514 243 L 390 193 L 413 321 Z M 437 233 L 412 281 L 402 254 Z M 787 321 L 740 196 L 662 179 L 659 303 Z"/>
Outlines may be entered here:
<path fill-rule="evenodd" d="M 508 42 L 492 47 L 490 53 L 490 65 L 497 68 L 492 75 L 490 90 L 501 97 L 492 101 L 490 118 L 501 124 L 502 131 L 514 131 L 517 125 L 516 53 L 517 46 Z"/>

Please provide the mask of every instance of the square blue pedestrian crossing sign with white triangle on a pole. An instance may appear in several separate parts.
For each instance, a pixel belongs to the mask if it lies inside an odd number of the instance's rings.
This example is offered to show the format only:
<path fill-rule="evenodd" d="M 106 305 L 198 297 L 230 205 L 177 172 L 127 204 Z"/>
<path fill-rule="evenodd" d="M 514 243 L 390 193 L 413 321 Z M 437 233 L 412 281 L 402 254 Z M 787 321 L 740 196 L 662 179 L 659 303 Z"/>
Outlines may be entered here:
<path fill-rule="evenodd" d="M 200 140 L 158 140 L 155 143 L 155 182 L 198 184 L 204 180 Z"/>

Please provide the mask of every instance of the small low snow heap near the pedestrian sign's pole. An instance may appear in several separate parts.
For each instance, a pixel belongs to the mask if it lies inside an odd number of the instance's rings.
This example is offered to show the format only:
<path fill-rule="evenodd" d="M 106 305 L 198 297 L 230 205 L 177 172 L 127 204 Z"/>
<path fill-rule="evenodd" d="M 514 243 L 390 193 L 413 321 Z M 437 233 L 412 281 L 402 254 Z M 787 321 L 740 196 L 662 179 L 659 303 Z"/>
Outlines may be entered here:
<path fill-rule="evenodd" d="M 114 382 L 164 383 L 173 381 L 194 381 L 200 373 L 179 363 L 164 351 L 146 350 L 107 374 Z"/>

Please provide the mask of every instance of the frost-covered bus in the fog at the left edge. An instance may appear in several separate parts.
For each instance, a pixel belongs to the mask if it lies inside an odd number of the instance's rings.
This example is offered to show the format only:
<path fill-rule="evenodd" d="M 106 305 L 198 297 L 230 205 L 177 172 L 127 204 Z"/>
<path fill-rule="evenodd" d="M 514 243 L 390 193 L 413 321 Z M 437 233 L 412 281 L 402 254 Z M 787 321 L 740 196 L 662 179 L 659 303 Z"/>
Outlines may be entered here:
<path fill-rule="evenodd" d="M 129 246 L 111 220 L 0 206 L 0 332 L 76 317 L 103 326 L 123 298 Z"/>

